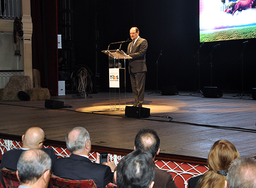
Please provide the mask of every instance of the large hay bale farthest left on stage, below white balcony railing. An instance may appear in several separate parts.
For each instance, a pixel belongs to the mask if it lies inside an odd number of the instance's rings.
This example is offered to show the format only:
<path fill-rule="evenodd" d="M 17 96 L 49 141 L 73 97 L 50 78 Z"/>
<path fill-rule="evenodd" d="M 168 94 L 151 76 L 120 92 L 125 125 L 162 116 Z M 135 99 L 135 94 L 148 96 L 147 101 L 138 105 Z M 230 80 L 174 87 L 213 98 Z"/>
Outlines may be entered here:
<path fill-rule="evenodd" d="M 32 81 L 29 76 L 11 76 L 9 82 L 3 90 L 2 100 L 20 101 L 19 91 L 25 91 L 32 87 Z"/>

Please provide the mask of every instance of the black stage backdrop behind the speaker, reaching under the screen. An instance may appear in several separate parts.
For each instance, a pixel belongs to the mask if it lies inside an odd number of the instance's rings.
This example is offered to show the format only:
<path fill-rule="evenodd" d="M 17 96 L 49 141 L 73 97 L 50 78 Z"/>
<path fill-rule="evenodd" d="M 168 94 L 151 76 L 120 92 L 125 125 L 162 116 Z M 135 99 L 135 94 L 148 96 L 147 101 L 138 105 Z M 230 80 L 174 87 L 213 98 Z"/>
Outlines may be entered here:
<path fill-rule="evenodd" d="M 95 83 L 108 90 L 108 57 L 101 51 L 111 42 L 125 41 L 129 29 L 137 26 L 148 41 L 146 89 L 156 89 L 156 60 L 159 59 L 158 89 L 175 85 L 178 90 L 198 89 L 199 0 L 74 0 L 76 64 L 87 65 Z M 241 90 L 240 54 L 245 40 L 205 43 L 200 50 L 201 88 L 213 84 L 222 90 Z M 249 39 L 243 53 L 244 90 L 256 87 L 255 39 Z M 220 43 L 211 56 L 214 45 Z M 128 44 L 123 44 L 124 51 Z M 118 46 L 111 45 L 110 49 Z M 129 88 L 129 85 L 127 85 Z"/>

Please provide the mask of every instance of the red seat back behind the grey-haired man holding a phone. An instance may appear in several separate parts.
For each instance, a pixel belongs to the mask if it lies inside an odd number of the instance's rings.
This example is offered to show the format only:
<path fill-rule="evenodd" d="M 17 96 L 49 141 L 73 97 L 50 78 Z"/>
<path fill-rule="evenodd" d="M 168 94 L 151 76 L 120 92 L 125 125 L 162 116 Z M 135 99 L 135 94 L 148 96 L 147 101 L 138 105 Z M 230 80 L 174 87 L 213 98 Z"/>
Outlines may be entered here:
<path fill-rule="evenodd" d="M 51 175 L 51 188 L 97 188 L 94 180 L 69 180 Z"/>

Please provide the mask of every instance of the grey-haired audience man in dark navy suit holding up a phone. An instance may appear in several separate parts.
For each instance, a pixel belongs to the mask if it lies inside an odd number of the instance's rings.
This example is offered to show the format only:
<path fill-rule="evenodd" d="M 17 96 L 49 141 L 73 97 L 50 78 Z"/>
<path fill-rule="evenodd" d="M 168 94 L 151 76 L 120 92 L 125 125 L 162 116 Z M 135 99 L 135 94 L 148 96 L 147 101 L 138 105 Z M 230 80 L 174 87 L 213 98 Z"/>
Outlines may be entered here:
<path fill-rule="evenodd" d="M 83 127 L 75 127 L 66 136 L 66 145 L 70 157 L 60 158 L 54 165 L 54 174 L 60 178 L 71 180 L 94 180 L 97 188 L 113 181 L 113 173 L 107 165 L 93 163 L 89 159 L 91 139 Z M 114 164 L 114 163 L 112 163 Z"/>

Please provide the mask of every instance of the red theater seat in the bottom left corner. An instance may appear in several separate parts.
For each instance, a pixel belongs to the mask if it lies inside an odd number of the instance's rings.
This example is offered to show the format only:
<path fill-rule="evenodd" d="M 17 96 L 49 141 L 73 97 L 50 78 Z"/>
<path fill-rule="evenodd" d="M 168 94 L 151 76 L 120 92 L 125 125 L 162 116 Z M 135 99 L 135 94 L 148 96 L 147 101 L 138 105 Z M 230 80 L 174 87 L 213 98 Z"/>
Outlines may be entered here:
<path fill-rule="evenodd" d="M 1 169 L 1 174 L 6 188 L 18 188 L 20 183 L 17 179 L 16 172 L 10 171 L 7 168 Z"/>

